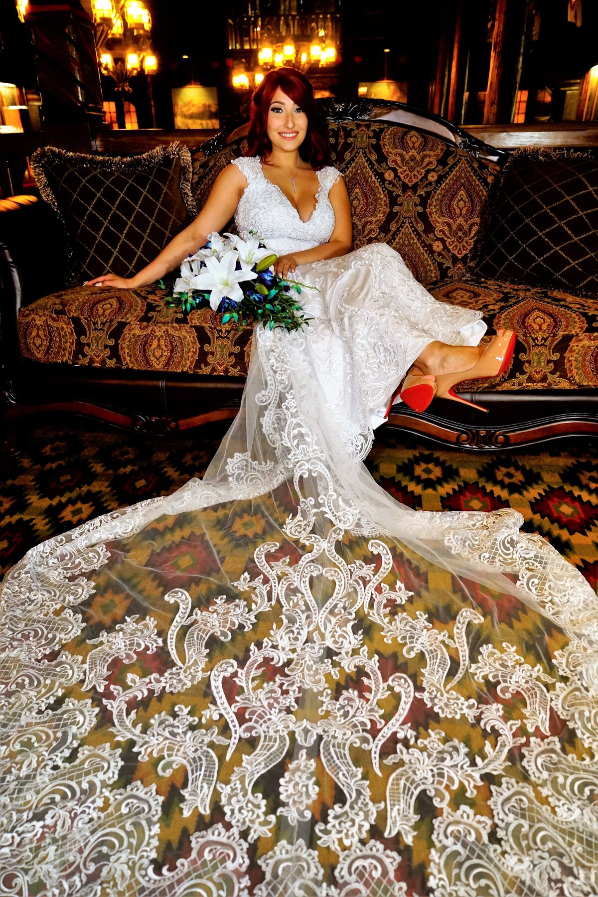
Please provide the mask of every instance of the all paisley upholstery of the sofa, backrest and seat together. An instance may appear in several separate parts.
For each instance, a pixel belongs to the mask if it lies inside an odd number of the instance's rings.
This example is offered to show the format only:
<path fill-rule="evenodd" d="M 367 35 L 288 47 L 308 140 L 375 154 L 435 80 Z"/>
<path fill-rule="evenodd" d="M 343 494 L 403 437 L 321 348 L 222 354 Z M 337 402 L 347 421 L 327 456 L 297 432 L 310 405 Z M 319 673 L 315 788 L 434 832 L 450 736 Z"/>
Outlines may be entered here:
<path fill-rule="evenodd" d="M 342 170 L 353 212 L 353 245 L 384 241 L 440 301 L 480 309 L 518 335 L 509 370 L 468 388 L 576 389 L 598 386 L 598 300 L 575 291 L 466 274 L 498 164 L 437 137 L 384 122 L 329 126 L 332 164 Z M 191 152 L 197 208 L 232 159 L 239 138 L 210 158 Z M 225 230 L 230 230 L 232 222 Z M 22 353 L 35 361 L 154 372 L 244 376 L 251 328 L 222 326 L 210 309 L 169 309 L 153 283 L 140 290 L 53 293 L 22 309 Z"/>

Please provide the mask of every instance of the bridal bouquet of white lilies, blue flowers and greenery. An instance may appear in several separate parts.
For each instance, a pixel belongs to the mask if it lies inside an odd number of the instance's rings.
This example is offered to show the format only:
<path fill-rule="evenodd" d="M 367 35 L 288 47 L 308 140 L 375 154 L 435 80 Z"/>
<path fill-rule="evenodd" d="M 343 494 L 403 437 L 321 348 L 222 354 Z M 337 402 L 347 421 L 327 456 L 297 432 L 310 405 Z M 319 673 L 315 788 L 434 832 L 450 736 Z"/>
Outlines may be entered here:
<path fill-rule="evenodd" d="M 260 321 L 264 327 L 299 330 L 309 323 L 297 302 L 305 283 L 283 280 L 273 273 L 276 255 L 266 249 L 253 231 L 244 240 L 216 231 L 204 248 L 184 259 L 169 296 L 169 307 L 186 314 L 210 306 L 222 316 L 222 324 Z M 160 281 L 160 287 L 166 286 Z M 312 289 L 310 287 L 310 289 Z M 314 287 L 313 289 L 317 289 Z"/>

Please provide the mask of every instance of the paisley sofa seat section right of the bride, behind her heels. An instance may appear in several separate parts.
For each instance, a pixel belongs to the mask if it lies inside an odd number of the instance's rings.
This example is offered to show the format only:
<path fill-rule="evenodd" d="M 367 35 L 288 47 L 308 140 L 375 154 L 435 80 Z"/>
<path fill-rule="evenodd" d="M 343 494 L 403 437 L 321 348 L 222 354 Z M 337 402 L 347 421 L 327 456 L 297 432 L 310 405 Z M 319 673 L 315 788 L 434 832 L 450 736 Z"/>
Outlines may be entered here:
<path fill-rule="evenodd" d="M 500 378 L 464 388 L 579 389 L 598 387 L 598 300 L 573 292 L 464 278 L 430 288 L 444 302 L 480 309 L 489 326 L 515 330 L 516 350 Z"/>

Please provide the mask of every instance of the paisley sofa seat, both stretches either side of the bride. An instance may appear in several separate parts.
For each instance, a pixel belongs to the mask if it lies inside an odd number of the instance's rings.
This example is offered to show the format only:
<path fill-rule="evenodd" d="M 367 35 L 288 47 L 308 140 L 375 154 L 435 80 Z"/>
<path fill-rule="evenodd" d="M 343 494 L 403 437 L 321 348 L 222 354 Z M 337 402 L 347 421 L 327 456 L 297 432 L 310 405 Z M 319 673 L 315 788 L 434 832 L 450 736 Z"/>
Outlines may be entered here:
<path fill-rule="evenodd" d="M 509 370 L 473 380 L 480 390 L 598 387 L 598 300 L 559 290 L 472 278 L 431 288 L 440 301 L 481 309 L 489 331 L 518 335 Z M 156 283 L 140 290 L 76 287 L 21 310 L 22 354 L 100 368 L 245 376 L 251 327 L 222 325 L 211 309 L 169 309 Z"/>

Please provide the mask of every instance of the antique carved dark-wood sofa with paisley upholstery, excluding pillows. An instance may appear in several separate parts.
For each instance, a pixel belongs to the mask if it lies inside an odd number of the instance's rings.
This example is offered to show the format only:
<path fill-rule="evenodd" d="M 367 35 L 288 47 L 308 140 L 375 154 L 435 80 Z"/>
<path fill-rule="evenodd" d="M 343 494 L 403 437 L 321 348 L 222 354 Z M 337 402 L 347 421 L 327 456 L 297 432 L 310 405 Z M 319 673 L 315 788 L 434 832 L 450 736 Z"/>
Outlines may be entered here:
<path fill-rule="evenodd" d="M 481 222 L 509 153 L 402 104 L 320 103 L 332 163 L 351 196 L 354 247 L 388 242 L 438 300 L 481 309 L 490 331 L 517 333 L 505 374 L 459 389 L 488 414 L 437 399 L 424 414 L 395 405 L 386 426 L 478 450 L 598 434 L 598 300 L 529 278 L 480 274 Z M 243 152 L 246 131 L 190 146 L 198 208 L 222 168 Z M 42 412 L 155 434 L 236 414 L 251 328 L 221 326 L 210 309 L 183 316 L 167 307 L 157 284 L 109 297 L 65 288 L 64 235 L 38 196 L 0 201 L 0 243 L 9 442 L 18 441 L 22 417 Z"/>

